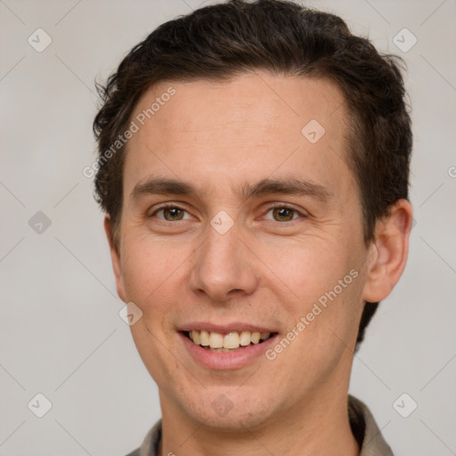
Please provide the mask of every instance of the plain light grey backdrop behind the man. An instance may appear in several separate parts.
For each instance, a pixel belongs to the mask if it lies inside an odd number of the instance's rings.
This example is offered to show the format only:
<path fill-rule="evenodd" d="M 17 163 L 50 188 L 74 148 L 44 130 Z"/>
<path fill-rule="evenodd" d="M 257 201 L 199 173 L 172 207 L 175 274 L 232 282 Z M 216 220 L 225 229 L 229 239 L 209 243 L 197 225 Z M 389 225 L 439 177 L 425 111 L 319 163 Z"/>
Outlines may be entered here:
<path fill-rule="evenodd" d="M 82 170 L 94 161 L 94 78 L 200 4 L 0 0 L 3 456 L 121 456 L 159 419 L 157 387 L 118 316 L 102 214 Z M 409 67 L 409 263 L 355 356 L 350 392 L 396 455 L 456 454 L 456 2 L 309 4 Z M 42 418 L 37 394 L 52 403 Z M 398 410 L 414 403 L 403 418 Z"/>

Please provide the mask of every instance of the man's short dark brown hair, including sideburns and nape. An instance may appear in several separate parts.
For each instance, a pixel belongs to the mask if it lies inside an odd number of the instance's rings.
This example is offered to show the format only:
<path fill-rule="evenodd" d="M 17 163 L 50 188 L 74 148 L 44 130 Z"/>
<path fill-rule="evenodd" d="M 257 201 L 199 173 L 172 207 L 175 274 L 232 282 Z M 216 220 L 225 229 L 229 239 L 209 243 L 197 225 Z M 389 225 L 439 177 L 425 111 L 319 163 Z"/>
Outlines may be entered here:
<path fill-rule="evenodd" d="M 403 61 L 380 54 L 368 39 L 352 35 L 344 20 L 280 0 L 210 5 L 156 28 L 126 55 L 105 85 L 94 119 L 98 142 L 95 198 L 110 215 L 113 238 L 123 198 L 126 146 L 107 160 L 128 127 L 142 94 L 161 81 L 228 79 L 265 69 L 278 75 L 319 77 L 338 85 L 350 112 L 347 161 L 362 201 L 364 241 L 398 199 L 408 199 L 411 119 L 404 100 Z M 358 334 L 378 303 L 364 306 Z"/>

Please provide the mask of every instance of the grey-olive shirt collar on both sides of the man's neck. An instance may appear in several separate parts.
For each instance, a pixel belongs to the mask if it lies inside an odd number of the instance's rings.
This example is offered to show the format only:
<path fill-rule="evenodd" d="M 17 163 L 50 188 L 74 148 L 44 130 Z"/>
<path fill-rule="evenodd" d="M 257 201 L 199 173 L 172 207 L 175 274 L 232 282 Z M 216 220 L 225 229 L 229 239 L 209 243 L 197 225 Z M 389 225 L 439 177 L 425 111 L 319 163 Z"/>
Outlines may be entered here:
<path fill-rule="evenodd" d="M 393 456 L 367 405 L 348 395 L 348 418 L 361 452 L 359 456 Z M 142 445 L 126 456 L 157 456 L 161 439 L 161 419 L 147 433 Z"/>

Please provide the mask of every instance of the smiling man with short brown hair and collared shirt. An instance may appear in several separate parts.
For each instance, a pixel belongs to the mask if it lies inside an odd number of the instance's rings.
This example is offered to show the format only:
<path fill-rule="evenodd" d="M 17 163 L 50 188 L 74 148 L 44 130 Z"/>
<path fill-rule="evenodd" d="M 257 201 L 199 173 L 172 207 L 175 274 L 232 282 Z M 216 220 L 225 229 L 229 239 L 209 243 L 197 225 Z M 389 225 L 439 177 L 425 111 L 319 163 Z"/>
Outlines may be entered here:
<path fill-rule="evenodd" d="M 408 254 L 393 57 L 232 1 L 157 28 L 101 93 L 97 199 L 162 412 L 131 455 L 392 454 L 347 392 Z"/>

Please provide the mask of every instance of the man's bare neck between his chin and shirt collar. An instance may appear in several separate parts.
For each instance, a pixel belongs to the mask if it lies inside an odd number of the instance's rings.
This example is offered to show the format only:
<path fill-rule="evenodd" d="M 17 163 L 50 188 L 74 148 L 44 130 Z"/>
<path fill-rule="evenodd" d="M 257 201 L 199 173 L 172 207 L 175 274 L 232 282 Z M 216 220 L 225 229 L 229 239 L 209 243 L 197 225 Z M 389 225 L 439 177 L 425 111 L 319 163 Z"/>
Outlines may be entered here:
<path fill-rule="evenodd" d="M 296 403 L 256 428 L 242 424 L 236 431 L 199 423 L 177 411 L 165 397 L 162 403 L 162 440 L 159 456 L 246 456 L 281 454 L 310 456 L 334 454 L 357 456 L 360 449 L 352 434 L 345 391 L 332 391 L 328 397 L 313 395 L 306 403 Z M 322 406 L 322 404 L 325 404 Z"/>

